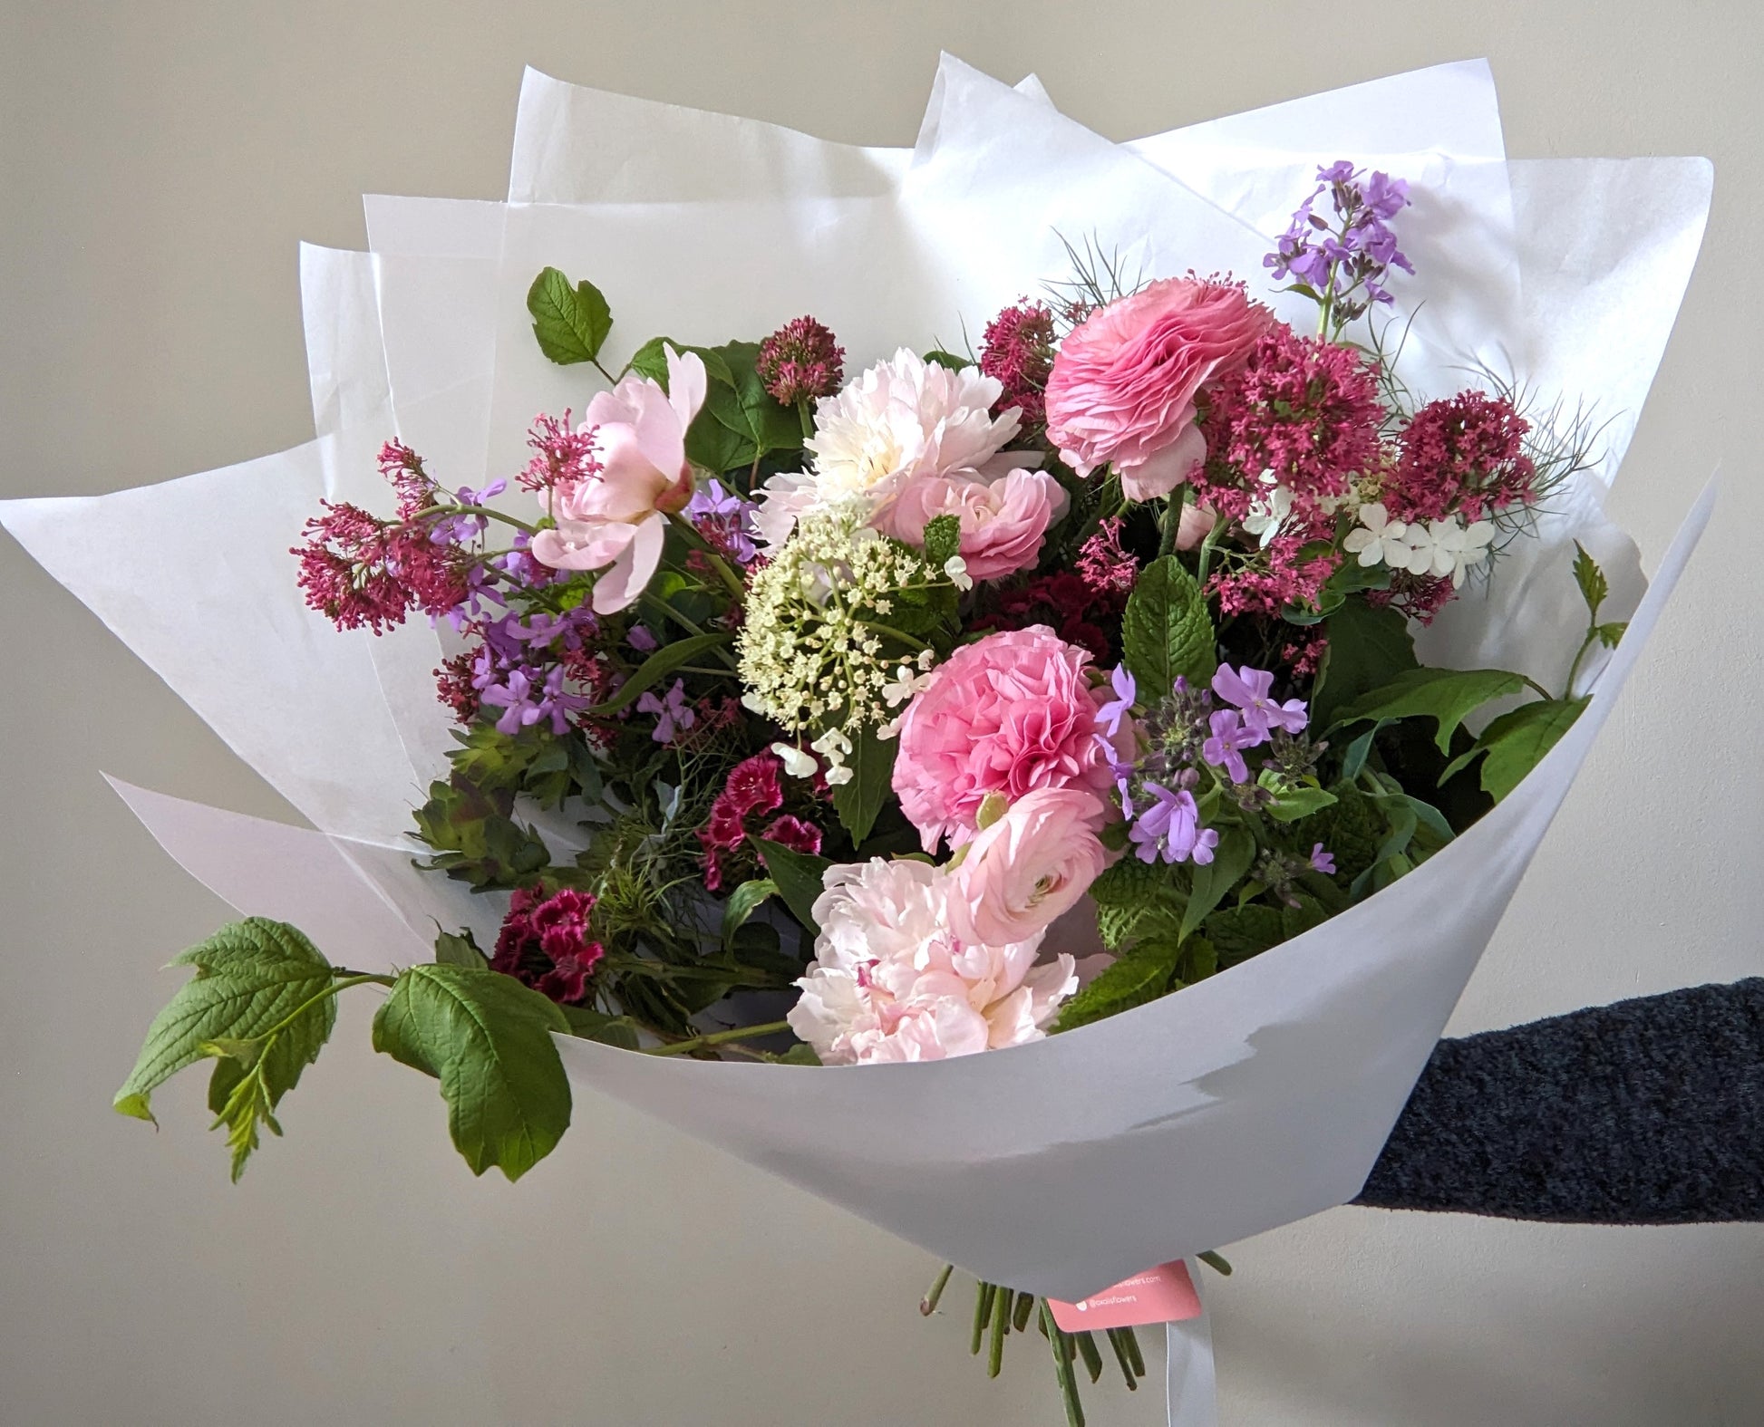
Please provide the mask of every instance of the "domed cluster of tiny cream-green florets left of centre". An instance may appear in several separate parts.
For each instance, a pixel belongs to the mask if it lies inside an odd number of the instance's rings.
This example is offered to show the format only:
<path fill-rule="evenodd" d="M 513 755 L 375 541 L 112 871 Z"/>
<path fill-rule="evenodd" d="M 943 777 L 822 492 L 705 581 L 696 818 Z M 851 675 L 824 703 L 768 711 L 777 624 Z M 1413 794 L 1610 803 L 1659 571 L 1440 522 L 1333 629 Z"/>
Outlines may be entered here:
<path fill-rule="evenodd" d="M 748 589 L 736 640 L 741 702 L 792 734 L 824 730 L 811 746 L 831 766 L 827 781 L 847 781 L 850 736 L 889 718 L 886 691 L 916 653 L 875 626 L 887 624 L 901 589 L 949 584 L 916 550 L 850 515 L 804 517 Z"/>

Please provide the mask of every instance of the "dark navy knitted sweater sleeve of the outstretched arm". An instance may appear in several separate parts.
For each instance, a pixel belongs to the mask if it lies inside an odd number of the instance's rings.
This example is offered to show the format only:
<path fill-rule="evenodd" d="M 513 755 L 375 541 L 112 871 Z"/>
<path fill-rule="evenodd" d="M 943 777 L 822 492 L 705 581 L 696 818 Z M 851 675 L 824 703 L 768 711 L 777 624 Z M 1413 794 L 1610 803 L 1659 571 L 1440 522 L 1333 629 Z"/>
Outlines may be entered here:
<path fill-rule="evenodd" d="M 1764 979 L 1441 1041 L 1355 1203 L 1764 1221 Z"/>

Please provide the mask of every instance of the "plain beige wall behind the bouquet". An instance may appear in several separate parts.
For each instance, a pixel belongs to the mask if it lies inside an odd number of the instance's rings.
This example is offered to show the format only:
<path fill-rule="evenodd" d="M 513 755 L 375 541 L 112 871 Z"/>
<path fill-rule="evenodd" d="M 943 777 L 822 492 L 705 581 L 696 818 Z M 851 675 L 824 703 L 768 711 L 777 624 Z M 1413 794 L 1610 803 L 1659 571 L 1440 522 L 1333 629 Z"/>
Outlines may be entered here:
<path fill-rule="evenodd" d="M 1129 138 L 1489 55 L 1514 155 L 1708 153 L 1715 213 L 1614 496 L 1651 564 L 1716 524 L 1455 1021 L 1764 968 L 1757 621 L 1764 9 L 1291 4 L 26 4 L 0 30 L 0 492 L 97 492 L 310 436 L 295 242 L 358 194 L 496 198 L 520 67 L 910 143 L 938 48 L 1037 71 Z M 466 473 L 459 473 L 464 476 Z M 102 559 L 93 550 L 93 559 Z M 0 1422 L 1053 1423 L 921 1252 L 580 1101 L 519 1187 L 473 1180 L 432 1085 L 349 997 L 288 1141 L 226 1180 L 194 1076 L 109 1111 L 171 954 L 226 908 L 99 780 L 286 815 L 0 543 Z M 1222 1406 L 1251 1423 L 1764 1420 L 1764 1228 L 1596 1229 L 1341 1208 L 1231 1249 Z M 1161 1422 L 1108 1379 L 1090 1420 Z"/>

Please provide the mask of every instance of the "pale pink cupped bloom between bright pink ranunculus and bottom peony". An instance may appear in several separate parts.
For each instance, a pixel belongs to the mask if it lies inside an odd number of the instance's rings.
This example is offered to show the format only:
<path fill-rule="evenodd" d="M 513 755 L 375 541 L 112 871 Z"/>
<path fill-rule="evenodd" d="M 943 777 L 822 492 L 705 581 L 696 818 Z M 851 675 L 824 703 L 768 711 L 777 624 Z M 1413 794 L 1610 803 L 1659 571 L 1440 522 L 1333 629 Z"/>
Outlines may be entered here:
<path fill-rule="evenodd" d="M 949 928 L 963 942 L 1037 937 L 1071 910 L 1108 864 L 1097 841 L 1102 801 L 1085 788 L 1035 788 L 974 834 L 949 889 Z"/>

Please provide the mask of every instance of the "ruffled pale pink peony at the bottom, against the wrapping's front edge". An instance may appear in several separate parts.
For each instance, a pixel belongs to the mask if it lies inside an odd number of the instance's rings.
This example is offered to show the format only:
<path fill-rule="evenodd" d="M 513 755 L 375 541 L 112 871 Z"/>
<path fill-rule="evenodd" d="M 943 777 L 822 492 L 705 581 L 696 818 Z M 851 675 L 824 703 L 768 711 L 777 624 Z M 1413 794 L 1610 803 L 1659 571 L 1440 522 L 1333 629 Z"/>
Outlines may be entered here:
<path fill-rule="evenodd" d="M 949 875 L 873 857 L 829 868 L 815 960 L 790 1028 L 827 1065 L 942 1060 L 1037 1041 L 1076 988 L 1071 956 L 1037 963 L 1041 933 L 972 945 L 949 928 Z"/>

